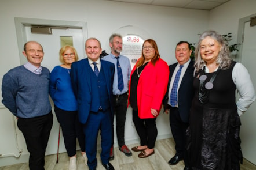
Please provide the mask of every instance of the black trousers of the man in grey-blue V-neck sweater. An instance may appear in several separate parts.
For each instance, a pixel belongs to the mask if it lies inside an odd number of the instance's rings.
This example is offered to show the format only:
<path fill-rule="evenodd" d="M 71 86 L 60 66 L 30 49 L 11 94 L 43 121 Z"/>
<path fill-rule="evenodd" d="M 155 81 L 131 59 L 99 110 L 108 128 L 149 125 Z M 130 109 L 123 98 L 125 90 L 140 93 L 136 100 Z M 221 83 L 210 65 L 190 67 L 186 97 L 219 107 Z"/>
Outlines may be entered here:
<path fill-rule="evenodd" d="M 19 118 L 17 126 L 24 135 L 30 153 L 30 170 L 44 170 L 45 150 L 53 126 L 52 111 L 36 118 Z"/>

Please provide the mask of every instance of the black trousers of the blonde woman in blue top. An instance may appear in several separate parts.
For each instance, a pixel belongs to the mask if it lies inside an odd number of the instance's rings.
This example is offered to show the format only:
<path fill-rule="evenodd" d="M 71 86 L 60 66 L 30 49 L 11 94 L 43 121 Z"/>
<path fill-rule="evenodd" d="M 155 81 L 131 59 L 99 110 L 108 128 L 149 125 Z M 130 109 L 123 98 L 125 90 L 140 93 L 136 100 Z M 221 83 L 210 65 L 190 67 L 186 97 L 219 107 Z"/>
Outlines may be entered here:
<path fill-rule="evenodd" d="M 72 157 L 76 154 L 76 138 L 78 138 L 81 151 L 85 152 L 85 134 L 83 133 L 83 126 L 78 120 L 78 112 L 64 111 L 56 105 L 54 105 L 54 111 L 62 129 L 68 156 Z"/>

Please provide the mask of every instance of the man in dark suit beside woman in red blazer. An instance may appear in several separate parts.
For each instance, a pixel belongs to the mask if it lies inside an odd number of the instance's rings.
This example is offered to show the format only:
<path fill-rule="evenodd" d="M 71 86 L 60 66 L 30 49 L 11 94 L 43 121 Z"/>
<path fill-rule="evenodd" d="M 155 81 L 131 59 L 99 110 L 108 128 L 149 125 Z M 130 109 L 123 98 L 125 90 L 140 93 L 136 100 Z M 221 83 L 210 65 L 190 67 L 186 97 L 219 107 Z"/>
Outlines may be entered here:
<path fill-rule="evenodd" d="M 194 62 L 190 59 L 191 52 L 188 42 L 180 41 L 177 44 L 175 56 L 178 62 L 169 66 L 169 90 L 163 100 L 164 112 L 170 112 L 171 133 L 176 143 L 176 154 L 168 163 L 175 165 L 184 160 L 184 170 L 190 169 L 186 152 L 186 129 L 193 98 Z"/>

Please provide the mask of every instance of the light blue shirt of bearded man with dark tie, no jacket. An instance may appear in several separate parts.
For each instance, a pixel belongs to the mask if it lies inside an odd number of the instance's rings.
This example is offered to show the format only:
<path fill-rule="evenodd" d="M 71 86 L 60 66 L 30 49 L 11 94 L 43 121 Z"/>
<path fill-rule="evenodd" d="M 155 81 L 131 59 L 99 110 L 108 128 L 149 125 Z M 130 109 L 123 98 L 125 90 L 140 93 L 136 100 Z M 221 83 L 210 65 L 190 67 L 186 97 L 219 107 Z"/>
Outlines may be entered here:
<path fill-rule="evenodd" d="M 130 74 L 131 74 L 131 63 L 130 59 L 127 58 L 126 56 L 119 55 L 119 64 L 122 69 L 122 74 L 123 74 L 123 90 L 120 91 L 118 89 L 118 73 L 117 73 L 117 67 L 116 67 L 116 62 L 117 59 L 115 58 L 115 55 L 112 53 L 109 55 L 104 56 L 101 58 L 105 61 L 109 61 L 111 63 L 114 63 L 115 65 L 115 75 L 114 75 L 114 83 L 113 83 L 113 93 L 114 95 L 122 95 L 123 93 L 126 93 L 128 91 L 128 84 L 130 81 Z"/>

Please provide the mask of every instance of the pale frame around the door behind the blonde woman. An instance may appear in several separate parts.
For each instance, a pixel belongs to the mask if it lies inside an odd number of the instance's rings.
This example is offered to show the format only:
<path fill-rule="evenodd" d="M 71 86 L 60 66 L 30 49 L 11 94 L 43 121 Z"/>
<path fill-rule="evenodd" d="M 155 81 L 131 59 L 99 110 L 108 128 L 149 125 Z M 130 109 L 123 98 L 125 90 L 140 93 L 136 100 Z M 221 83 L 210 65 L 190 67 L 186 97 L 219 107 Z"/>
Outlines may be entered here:
<path fill-rule="evenodd" d="M 16 36 L 19 51 L 23 51 L 23 46 L 27 42 L 27 34 L 25 33 L 25 26 L 29 25 L 49 25 L 49 26 L 58 26 L 58 27 L 70 27 L 82 29 L 83 32 L 83 44 L 88 37 L 87 22 L 81 21 L 63 21 L 63 20 L 44 20 L 36 18 L 20 18 L 14 17 L 15 27 L 16 27 Z M 85 50 L 84 56 L 85 56 Z M 20 53 L 20 64 L 27 62 L 23 54 Z"/>

